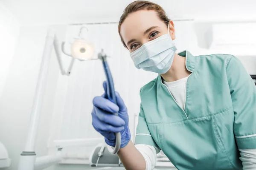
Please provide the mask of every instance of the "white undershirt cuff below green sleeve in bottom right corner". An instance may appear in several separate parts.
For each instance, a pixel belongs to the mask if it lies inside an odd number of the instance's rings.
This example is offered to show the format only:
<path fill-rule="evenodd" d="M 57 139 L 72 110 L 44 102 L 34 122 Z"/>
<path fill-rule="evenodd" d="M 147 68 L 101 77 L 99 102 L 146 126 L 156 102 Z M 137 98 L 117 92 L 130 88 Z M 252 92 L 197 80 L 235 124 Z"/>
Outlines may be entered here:
<path fill-rule="evenodd" d="M 243 170 L 256 170 L 256 149 L 239 149 Z"/>

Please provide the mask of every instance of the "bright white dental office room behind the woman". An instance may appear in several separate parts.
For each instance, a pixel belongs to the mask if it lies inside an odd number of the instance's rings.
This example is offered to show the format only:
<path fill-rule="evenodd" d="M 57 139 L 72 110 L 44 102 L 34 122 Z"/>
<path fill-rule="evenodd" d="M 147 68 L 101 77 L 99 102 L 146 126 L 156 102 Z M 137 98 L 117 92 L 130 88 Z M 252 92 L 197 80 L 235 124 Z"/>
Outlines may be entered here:
<path fill-rule="evenodd" d="M 140 88 L 157 74 L 135 68 L 120 40 L 119 17 L 132 1 L 0 0 L 0 169 L 18 169 L 31 133 L 36 135 L 38 170 L 124 169 L 107 151 L 95 167 L 104 138 L 92 126 L 91 111 L 93 97 L 104 91 L 106 77 L 97 59 L 103 49 L 115 90 L 128 108 L 134 141 Z M 153 2 L 163 6 L 174 22 L 177 52 L 233 54 L 252 77 L 256 75 L 255 0 Z M 78 50 L 73 46 L 76 41 L 78 47 L 83 45 L 80 39 L 95 47 L 93 60 L 70 57 Z M 37 88 L 38 82 L 44 91 Z M 31 126 L 35 94 L 41 97 L 41 107 Z M 161 152 L 155 168 L 175 169 Z"/>

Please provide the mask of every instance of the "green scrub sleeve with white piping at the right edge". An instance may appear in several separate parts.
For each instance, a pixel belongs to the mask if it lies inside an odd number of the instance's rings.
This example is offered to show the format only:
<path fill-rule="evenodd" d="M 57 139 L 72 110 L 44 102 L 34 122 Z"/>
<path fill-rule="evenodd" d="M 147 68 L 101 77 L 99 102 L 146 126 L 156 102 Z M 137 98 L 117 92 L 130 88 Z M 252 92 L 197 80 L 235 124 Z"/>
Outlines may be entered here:
<path fill-rule="evenodd" d="M 256 86 L 236 57 L 226 67 L 234 110 L 233 131 L 239 149 L 256 149 Z"/>

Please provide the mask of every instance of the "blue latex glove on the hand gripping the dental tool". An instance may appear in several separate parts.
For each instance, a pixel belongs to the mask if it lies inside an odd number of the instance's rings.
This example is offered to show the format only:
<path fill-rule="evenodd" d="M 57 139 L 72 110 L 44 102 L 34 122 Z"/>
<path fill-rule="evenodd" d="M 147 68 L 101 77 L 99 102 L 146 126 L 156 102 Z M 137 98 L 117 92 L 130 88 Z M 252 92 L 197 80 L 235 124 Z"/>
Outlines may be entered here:
<path fill-rule="evenodd" d="M 105 93 L 93 99 L 93 127 L 105 137 L 105 142 L 113 147 L 116 144 L 115 133 L 120 132 L 121 148 L 125 147 L 131 139 L 127 108 L 117 92 L 117 105 L 107 99 L 107 82 L 103 82 L 103 88 Z M 114 115 L 116 112 L 118 116 Z"/>

